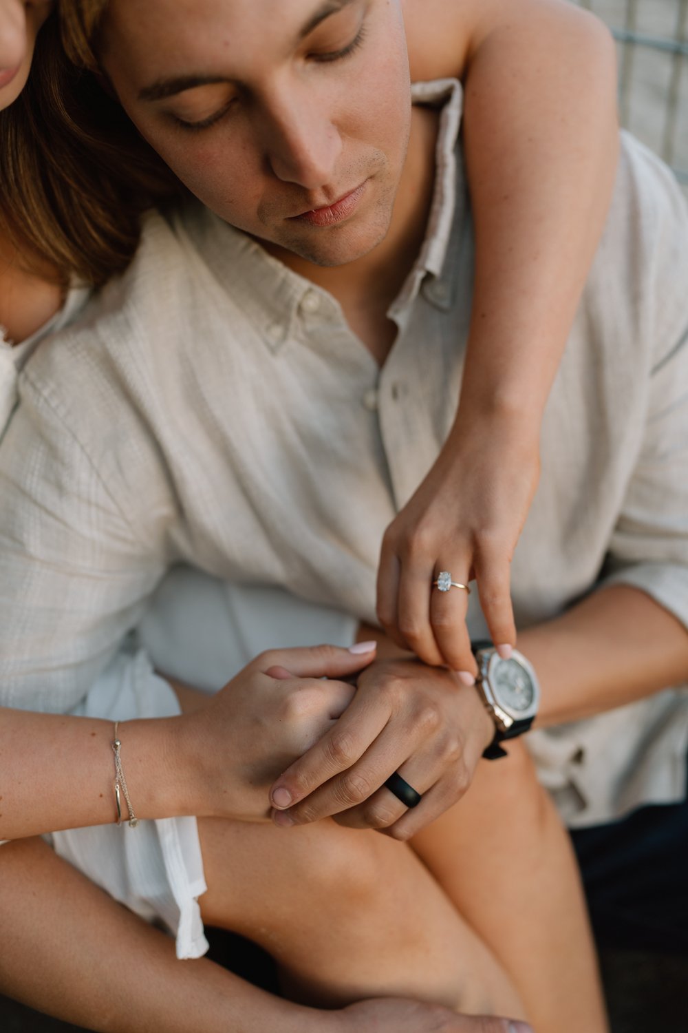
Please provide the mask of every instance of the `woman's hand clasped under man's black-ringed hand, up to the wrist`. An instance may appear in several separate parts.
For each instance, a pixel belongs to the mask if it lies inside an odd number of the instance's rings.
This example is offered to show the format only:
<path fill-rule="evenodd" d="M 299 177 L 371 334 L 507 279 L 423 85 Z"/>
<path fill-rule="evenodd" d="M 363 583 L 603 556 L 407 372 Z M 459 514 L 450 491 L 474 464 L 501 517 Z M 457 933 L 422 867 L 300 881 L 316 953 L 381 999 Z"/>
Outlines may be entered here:
<path fill-rule="evenodd" d="M 269 818 L 270 784 L 331 731 L 356 691 L 339 679 L 360 671 L 374 651 L 374 643 L 359 643 L 261 653 L 206 706 L 181 718 L 193 813 Z"/>

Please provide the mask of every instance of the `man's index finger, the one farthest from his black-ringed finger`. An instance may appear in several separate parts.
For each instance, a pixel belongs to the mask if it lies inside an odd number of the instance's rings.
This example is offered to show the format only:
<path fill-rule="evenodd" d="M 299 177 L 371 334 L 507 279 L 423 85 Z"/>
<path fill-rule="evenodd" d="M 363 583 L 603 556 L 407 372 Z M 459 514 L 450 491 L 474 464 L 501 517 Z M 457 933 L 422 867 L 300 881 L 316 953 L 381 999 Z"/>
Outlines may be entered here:
<path fill-rule="evenodd" d="M 389 706 L 355 696 L 337 723 L 275 780 L 270 802 L 277 810 L 292 807 L 363 755 L 389 721 Z"/>

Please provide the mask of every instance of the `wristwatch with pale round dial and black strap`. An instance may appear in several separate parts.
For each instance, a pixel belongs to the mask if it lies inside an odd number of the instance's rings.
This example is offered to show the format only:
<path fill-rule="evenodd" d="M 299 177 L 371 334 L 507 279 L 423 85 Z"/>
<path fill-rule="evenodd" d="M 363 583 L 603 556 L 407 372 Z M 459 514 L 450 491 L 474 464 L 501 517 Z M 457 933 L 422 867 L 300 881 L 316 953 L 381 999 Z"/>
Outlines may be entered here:
<path fill-rule="evenodd" d="M 483 751 L 488 760 L 505 757 L 499 745 L 527 731 L 537 713 L 539 683 L 531 663 L 514 650 L 502 660 L 489 640 L 470 644 L 478 663 L 476 688 L 494 721 L 494 739 Z"/>

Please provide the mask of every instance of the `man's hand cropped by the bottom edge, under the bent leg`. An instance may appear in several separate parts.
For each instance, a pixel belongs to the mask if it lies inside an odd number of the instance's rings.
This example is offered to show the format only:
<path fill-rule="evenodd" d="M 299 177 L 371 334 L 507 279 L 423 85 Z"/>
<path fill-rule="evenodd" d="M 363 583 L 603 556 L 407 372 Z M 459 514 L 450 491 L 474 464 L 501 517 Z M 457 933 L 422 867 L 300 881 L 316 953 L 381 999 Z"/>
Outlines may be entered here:
<path fill-rule="evenodd" d="M 331 1016 L 332 1033 L 532 1033 L 526 1023 L 457 1015 L 439 1004 L 391 997 L 359 1001 Z"/>

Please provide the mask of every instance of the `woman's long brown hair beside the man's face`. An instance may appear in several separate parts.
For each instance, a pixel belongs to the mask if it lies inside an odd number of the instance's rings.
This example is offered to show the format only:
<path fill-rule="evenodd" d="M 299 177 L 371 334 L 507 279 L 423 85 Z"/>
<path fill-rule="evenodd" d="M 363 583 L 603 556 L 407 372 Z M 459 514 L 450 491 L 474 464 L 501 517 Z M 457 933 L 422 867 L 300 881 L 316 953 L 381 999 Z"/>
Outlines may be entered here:
<path fill-rule="evenodd" d="M 0 232 L 27 269 L 100 285 L 126 269 L 140 216 L 181 187 L 103 88 L 93 52 L 107 0 L 63 0 L 29 81 L 0 112 Z"/>

